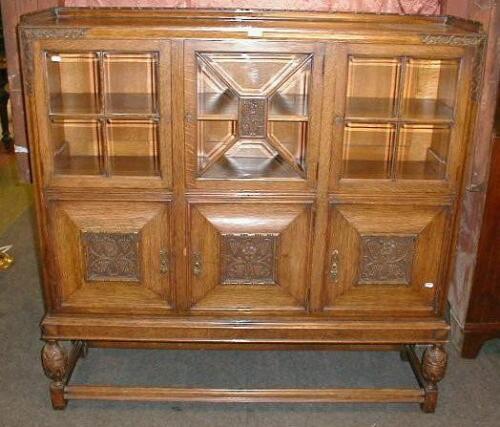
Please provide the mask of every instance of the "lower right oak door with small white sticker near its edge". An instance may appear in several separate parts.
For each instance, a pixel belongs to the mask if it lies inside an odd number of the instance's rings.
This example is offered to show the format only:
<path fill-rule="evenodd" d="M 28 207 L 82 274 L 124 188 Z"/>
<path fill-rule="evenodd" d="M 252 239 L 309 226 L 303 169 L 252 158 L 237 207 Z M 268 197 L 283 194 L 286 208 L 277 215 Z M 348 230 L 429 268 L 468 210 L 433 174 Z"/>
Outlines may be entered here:
<path fill-rule="evenodd" d="M 431 315 L 443 286 L 448 208 L 332 205 L 324 310 Z"/>

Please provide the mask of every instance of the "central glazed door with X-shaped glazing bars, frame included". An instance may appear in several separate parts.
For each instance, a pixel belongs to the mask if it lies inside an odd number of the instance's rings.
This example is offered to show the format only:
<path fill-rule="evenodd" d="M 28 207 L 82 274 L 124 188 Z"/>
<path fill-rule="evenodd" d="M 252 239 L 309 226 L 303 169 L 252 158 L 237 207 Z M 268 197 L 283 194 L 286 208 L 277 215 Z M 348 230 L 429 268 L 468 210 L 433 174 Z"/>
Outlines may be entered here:
<path fill-rule="evenodd" d="M 185 49 L 188 185 L 315 185 L 321 44 L 192 41 Z"/>

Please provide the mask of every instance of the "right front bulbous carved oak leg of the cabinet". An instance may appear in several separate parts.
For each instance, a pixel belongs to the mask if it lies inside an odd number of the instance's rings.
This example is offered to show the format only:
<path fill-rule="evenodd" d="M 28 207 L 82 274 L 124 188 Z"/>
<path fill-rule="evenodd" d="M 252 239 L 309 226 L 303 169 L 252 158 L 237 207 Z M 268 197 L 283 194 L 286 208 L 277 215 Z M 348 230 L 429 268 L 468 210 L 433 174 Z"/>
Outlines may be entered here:
<path fill-rule="evenodd" d="M 424 412 L 434 412 L 437 405 L 437 383 L 444 378 L 448 354 L 441 344 L 434 344 L 424 351 L 422 357 L 422 375 L 427 381 L 425 386 L 425 400 L 422 403 Z"/>

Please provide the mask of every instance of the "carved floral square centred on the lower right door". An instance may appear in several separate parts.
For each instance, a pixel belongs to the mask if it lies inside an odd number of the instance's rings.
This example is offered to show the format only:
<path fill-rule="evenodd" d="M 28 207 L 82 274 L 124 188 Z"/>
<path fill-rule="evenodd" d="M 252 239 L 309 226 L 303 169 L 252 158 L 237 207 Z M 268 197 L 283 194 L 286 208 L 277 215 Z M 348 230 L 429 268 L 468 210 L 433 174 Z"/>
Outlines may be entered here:
<path fill-rule="evenodd" d="M 415 236 L 361 236 L 359 284 L 409 284 Z"/>

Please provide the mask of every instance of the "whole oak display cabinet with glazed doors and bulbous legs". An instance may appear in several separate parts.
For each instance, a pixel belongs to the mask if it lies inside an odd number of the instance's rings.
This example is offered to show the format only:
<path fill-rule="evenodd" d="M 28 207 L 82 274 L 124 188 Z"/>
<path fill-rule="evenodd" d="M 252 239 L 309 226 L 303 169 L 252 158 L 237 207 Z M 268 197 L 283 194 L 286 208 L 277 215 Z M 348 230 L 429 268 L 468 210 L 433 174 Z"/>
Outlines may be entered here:
<path fill-rule="evenodd" d="M 434 411 L 481 85 L 476 24 L 60 8 L 26 15 L 19 31 L 54 408 L 89 398 Z M 396 350 L 417 384 L 70 382 L 99 346 Z"/>

